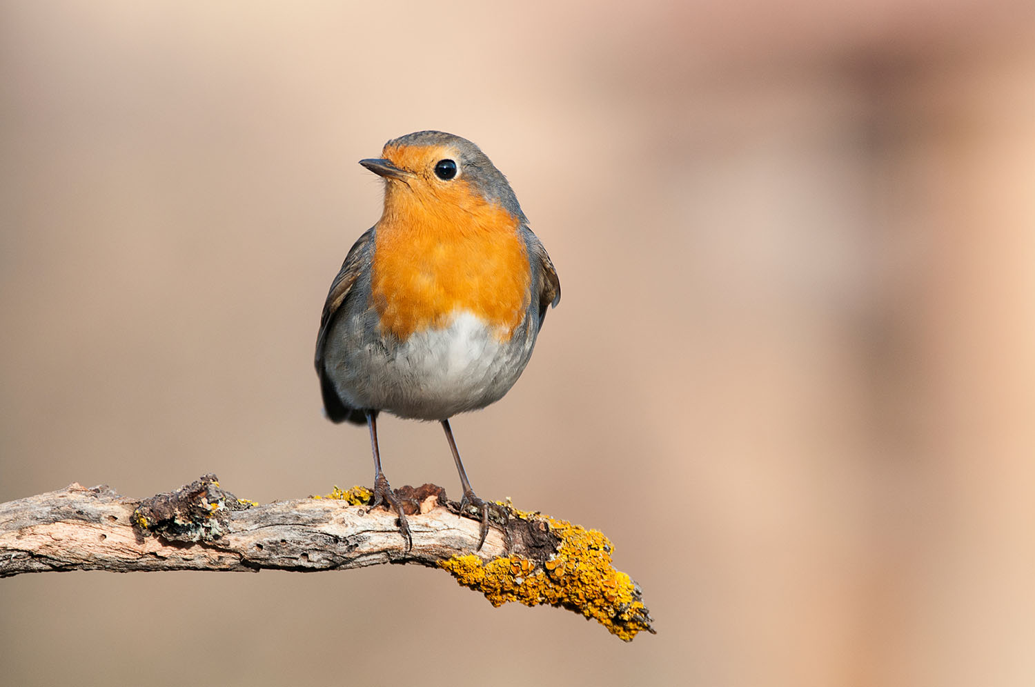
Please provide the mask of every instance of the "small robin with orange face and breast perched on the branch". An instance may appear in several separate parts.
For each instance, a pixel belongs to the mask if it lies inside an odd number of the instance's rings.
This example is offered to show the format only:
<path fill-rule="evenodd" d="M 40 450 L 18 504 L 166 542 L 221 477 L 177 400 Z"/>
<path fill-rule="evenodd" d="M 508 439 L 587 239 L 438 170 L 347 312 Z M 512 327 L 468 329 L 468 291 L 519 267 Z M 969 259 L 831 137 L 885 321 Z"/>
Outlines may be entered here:
<path fill-rule="evenodd" d="M 461 509 L 480 511 L 480 549 L 489 512 L 500 509 L 471 488 L 449 418 L 513 386 L 561 285 L 506 177 L 470 141 L 417 131 L 359 163 L 384 179 L 384 212 L 349 250 L 324 303 L 316 351 L 324 408 L 332 422 L 365 422 L 371 509 L 398 514 L 407 549 L 413 538 L 381 470 L 377 417 L 440 422 Z"/>

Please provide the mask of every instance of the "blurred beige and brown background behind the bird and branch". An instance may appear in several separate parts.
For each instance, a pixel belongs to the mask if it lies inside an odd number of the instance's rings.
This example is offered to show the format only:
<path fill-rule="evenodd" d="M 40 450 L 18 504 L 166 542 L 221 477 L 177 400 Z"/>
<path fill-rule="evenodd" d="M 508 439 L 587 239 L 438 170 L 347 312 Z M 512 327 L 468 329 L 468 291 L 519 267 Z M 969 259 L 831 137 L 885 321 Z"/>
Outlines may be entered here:
<path fill-rule="evenodd" d="M 0 682 L 1031 684 L 1030 1 L 0 8 L 0 501 L 371 483 L 313 347 L 356 161 L 440 128 L 564 290 L 453 422 L 471 479 L 602 530 L 658 629 L 410 567 L 23 575 Z M 439 427 L 380 429 L 459 496 Z"/>

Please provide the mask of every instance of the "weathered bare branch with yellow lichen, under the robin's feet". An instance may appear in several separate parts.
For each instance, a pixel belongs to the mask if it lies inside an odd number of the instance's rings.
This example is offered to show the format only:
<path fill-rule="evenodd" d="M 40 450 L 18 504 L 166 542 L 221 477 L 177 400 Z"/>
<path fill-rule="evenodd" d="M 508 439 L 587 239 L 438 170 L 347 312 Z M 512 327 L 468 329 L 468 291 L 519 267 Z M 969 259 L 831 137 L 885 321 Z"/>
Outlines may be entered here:
<path fill-rule="evenodd" d="M 495 606 L 550 604 L 600 622 L 626 641 L 654 632 L 640 588 L 611 565 L 595 530 L 519 511 L 494 522 L 481 550 L 479 521 L 433 484 L 403 487 L 413 548 L 396 517 L 366 513 L 364 487 L 259 505 L 224 490 L 214 475 L 144 501 L 107 485 L 0 504 L 0 577 L 108 570 L 345 570 L 416 563 L 448 570 Z M 412 513 L 411 513 L 412 511 Z"/>

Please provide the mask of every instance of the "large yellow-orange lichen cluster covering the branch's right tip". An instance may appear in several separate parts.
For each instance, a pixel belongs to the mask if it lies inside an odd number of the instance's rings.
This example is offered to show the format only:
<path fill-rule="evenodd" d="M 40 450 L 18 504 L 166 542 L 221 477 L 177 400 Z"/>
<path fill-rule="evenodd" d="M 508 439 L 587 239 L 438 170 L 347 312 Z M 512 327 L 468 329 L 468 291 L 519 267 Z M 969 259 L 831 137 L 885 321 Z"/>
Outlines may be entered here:
<path fill-rule="evenodd" d="M 440 561 L 439 566 L 497 607 L 508 601 L 563 606 L 596 620 L 625 641 L 643 630 L 653 632 L 635 584 L 612 566 L 607 537 L 565 520 L 510 510 L 514 517 L 544 520 L 560 539 L 556 554 L 541 566 L 516 556 L 483 563 L 473 555 Z"/>

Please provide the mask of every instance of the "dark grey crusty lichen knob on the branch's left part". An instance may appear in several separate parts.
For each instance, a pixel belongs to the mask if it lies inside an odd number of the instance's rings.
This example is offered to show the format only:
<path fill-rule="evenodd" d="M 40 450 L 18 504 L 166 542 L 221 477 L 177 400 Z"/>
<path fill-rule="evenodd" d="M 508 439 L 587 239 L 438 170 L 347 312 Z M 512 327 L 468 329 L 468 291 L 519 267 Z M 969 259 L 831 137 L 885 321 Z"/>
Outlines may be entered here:
<path fill-rule="evenodd" d="M 175 491 L 142 501 L 134 510 L 132 520 L 144 536 L 155 535 L 167 541 L 212 541 L 226 534 L 232 511 L 254 505 L 258 504 L 223 489 L 218 478 L 209 473 Z"/>

